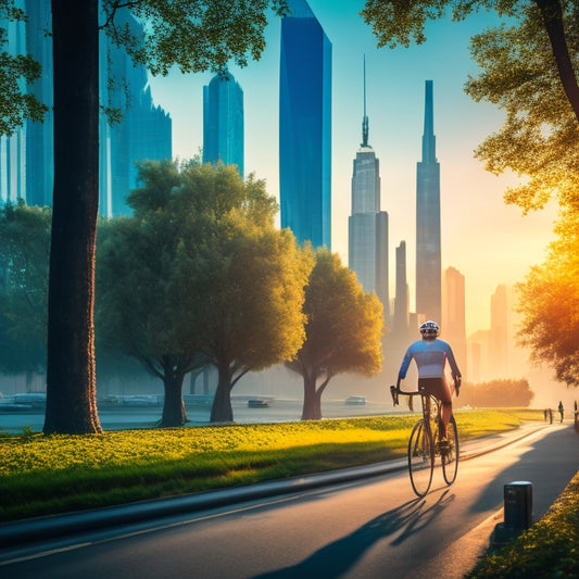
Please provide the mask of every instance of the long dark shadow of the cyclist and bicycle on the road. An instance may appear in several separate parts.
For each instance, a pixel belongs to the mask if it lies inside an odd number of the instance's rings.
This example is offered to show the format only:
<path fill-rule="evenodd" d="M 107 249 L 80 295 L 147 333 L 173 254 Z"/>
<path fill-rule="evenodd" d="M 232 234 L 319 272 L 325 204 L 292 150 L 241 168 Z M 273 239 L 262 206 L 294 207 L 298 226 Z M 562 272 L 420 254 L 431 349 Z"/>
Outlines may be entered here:
<path fill-rule="evenodd" d="M 255 576 L 253 579 L 341 577 L 374 543 L 394 534 L 390 544 L 403 543 L 414 533 L 428 527 L 453 500 L 454 494 L 450 494 L 448 490 L 429 506 L 426 506 L 424 499 L 410 501 L 369 520 L 354 532 L 324 546 L 301 563 Z"/>

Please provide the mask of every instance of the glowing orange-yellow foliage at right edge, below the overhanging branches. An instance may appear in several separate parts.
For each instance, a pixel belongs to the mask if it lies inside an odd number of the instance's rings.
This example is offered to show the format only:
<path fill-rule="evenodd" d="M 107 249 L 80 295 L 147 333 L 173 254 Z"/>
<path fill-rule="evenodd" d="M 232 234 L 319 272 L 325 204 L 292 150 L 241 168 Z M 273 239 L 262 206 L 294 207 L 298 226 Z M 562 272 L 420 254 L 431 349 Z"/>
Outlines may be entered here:
<path fill-rule="evenodd" d="M 579 216 L 568 215 L 556 231 L 545 262 L 517 285 L 523 314 L 518 339 L 530 348 L 531 360 L 555 370 L 558 381 L 578 387 Z"/>

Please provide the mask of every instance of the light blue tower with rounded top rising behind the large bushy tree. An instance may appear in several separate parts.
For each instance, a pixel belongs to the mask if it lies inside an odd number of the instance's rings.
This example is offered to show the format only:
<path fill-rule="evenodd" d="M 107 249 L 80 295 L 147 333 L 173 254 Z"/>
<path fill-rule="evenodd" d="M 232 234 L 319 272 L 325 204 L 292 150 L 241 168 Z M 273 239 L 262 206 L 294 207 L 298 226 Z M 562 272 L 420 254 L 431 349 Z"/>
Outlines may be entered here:
<path fill-rule="evenodd" d="M 243 91 L 230 73 L 203 87 L 203 163 L 218 161 L 243 176 Z"/>

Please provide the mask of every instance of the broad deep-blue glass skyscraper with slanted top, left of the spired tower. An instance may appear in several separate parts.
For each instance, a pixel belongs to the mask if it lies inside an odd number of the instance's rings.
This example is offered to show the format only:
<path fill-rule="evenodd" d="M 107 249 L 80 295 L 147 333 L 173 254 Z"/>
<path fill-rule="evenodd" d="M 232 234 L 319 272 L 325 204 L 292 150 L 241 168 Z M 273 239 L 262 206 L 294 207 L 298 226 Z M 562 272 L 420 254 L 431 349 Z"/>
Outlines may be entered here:
<path fill-rule="evenodd" d="M 281 227 L 331 248 L 331 43 L 305 0 L 281 21 L 279 198 Z"/>

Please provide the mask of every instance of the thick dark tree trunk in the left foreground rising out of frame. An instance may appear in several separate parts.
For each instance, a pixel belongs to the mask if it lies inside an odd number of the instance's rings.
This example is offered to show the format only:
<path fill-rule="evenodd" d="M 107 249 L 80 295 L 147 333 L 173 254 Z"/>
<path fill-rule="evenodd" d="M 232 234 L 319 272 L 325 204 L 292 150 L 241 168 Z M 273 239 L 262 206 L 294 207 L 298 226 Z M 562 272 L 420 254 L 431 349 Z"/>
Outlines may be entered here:
<path fill-rule="evenodd" d="M 95 373 L 98 0 L 52 0 L 54 192 L 45 433 L 100 432 Z"/>

